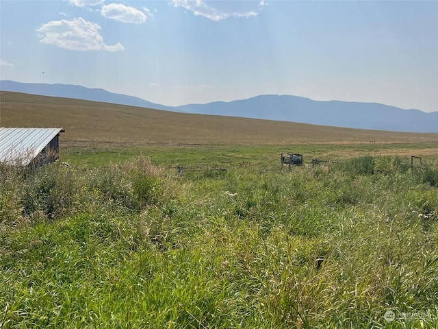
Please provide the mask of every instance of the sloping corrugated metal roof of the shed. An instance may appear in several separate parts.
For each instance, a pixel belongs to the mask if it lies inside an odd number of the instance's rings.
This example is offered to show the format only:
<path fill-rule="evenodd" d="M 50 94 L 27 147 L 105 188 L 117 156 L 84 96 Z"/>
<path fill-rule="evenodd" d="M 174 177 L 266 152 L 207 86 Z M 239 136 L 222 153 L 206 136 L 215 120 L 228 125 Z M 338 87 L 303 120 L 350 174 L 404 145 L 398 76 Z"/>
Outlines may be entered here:
<path fill-rule="evenodd" d="M 62 128 L 0 127 L 0 163 L 27 166 Z"/>

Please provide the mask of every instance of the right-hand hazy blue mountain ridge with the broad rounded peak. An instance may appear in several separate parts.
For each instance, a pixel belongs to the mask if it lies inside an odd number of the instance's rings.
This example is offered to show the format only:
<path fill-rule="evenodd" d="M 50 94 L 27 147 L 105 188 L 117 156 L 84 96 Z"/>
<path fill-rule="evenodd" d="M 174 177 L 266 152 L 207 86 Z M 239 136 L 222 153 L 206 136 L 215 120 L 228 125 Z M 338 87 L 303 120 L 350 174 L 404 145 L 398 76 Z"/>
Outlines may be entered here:
<path fill-rule="evenodd" d="M 179 106 L 198 114 L 232 115 L 399 132 L 438 132 L 438 112 L 403 110 L 380 103 L 314 101 L 290 95 L 260 95 L 238 101 Z"/>

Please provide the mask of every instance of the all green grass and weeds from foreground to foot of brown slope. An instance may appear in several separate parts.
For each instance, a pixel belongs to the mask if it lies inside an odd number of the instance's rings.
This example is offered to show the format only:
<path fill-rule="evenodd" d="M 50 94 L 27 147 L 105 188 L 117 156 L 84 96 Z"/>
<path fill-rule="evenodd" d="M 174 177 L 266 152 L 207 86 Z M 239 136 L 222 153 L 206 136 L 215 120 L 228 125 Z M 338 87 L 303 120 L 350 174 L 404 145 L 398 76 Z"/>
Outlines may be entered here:
<path fill-rule="evenodd" d="M 73 148 L 70 167 L 1 168 L 0 328 L 438 328 L 434 158 L 412 171 L 357 147 Z M 344 160 L 280 171 L 281 151 Z M 201 162 L 229 170 L 170 168 Z"/>

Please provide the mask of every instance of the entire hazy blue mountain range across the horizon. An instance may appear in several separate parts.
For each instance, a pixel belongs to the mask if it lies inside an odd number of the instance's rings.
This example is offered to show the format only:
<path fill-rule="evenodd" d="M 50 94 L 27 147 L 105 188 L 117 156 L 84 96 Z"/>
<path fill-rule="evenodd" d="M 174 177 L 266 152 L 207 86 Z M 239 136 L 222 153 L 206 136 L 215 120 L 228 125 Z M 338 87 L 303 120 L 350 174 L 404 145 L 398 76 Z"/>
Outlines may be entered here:
<path fill-rule="evenodd" d="M 26 84 L 1 80 L 0 90 L 194 114 L 398 132 L 438 132 L 438 112 L 404 110 L 381 103 L 314 101 L 291 95 L 259 95 L 229 102 L 215 101 L 206 104 L 164 106 L 138 97 L 68 84 Z"/>

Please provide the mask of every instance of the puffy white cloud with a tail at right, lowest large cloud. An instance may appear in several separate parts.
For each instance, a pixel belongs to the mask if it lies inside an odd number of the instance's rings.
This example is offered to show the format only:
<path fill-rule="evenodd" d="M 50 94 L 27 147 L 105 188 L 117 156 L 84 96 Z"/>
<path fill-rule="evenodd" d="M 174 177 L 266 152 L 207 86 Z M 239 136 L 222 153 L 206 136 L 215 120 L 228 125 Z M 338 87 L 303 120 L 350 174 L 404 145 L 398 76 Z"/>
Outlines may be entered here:
<path fill-rule="evenodd" d="M 55 45 L 56 47 L 69 50 L 105 50 L 120 51 L 125 50 L 123 45 L 106 45 L 103 41 L 99 24 L 85 21 L 84 19 L 73 19 L 67 21 L 51 21 L 41 25 L 36 32 L 40 37 L 40 42 L 46 45 Z"/>

